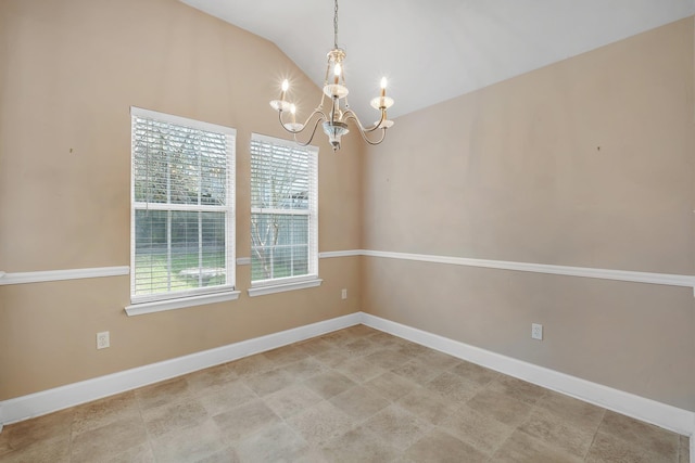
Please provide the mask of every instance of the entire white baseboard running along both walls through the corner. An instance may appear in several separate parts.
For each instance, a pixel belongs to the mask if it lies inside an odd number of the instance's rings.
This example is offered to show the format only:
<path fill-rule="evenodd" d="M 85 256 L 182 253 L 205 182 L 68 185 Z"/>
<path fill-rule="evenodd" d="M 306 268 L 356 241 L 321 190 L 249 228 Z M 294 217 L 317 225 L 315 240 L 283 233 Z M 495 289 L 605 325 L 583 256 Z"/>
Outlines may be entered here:
<path fill-rule="evenodd" d="M 618 413 L 653 423 L 666 429 L 688 435 L 691 436 L 691 456 L 695 456 L 695 412 L 606 387 L 364 312 L 351 313 L 228 346 L 9 399 L 0 402 L 0 430 L 2 430 L 3 424 L 15 423 L 90 402 L 359 323 Z M 695 463 L 695 459 L 691 461 Z"/>

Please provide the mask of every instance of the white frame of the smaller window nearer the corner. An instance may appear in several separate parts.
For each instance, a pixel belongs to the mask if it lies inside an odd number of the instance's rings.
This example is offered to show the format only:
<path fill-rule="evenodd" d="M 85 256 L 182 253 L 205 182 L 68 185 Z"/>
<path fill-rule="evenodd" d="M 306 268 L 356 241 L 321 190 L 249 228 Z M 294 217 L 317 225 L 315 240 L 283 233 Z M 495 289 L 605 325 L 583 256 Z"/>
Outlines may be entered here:
<path fill-rule="evenodd" d="M 267 143 L 271 145 L 286 146 L 290 149 L 298 149 L 298 145 L 293 141 L 278 139 L 275 137 L 268 137 L 260 133 L 252 133 L 251 141 L 257 141 L 261 143 Z M 251 214 L 280 214 L 280 215 L 305 215 L 308 216 L 308 272 L 305 275 L 299 276 L 283 276 L 268 280 L 251 281 L 251 287 L 249 288 L 249 296 L 263 296 L 266 294 L 281 293 L 286 291 L 304 290 L 307 287 L 319 286 L 323 280 L 318 278 L 318 147 L 313 145 L 300 146 L 301 150 L 305 150 L 308 154 L 309 163 L 309 179 L 308 179 L 308 209 L 307 210 L 294 210 L 294 209 L 268 209 L 260 207 L 251 207 Z M 253 158 L 252 149 L 250 146 L 251 158 Z M 253 162 L 251 162 L 253 164 Z M 313 175 L 312 172 L 313 171 Z M 253 182 L 253 175 L 250 178 Z M 251 242 L 253 246 L 253 242 Z M 251 253 L 253 256 L 253 250 Z"/>

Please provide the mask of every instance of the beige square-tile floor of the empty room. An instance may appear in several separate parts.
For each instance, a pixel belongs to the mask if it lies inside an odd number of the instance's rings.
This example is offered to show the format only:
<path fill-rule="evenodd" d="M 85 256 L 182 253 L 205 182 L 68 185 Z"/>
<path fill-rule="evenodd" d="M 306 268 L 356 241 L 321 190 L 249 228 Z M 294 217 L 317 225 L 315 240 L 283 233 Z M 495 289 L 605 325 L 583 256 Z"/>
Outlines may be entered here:
<path fill-rule="evenodd" d="M 2 462 L 688 462 L 688 439 L 371 330 L 5 426 Z"/>

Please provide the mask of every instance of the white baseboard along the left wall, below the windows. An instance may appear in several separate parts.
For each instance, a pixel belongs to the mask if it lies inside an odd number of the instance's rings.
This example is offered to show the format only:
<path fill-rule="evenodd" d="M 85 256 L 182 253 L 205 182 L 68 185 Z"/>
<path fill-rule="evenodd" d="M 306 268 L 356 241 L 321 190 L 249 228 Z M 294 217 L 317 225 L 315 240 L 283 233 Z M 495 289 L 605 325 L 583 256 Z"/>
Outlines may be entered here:
<path fill-rule="evenodd" d="M 288 344 L 320 336 L 336 330 L 359 324 L 361 320 L 361 312 L 351 313 L 349 316 L 242 340 L 228 346 L 9 399 L 0 402 L 0 430 L 2 430 L 3 424 L 43 415 L 147 386 L 148 384 L 282 347 Z"/>

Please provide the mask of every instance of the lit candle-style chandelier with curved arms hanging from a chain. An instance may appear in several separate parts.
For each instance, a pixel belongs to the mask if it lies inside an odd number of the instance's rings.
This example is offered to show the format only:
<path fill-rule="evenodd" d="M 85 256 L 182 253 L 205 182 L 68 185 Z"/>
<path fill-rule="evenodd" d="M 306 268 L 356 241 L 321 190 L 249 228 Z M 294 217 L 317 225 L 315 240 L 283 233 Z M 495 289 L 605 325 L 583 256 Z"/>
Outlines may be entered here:
<path fill-rule="evenodd" d="M 378 110 L 380 113 L 379 120 L 374 123 L 369 127 L 362 125 L 357 115 L 350 108 L 348 103 L 348 87 L 345 83 L 344 61 L 345 51 L 338 47 L 338 0 L 336 0 L 336 9 L 333 13 L 333 49 L 328 52 L 328 63 L 326 65 L 326 77 L 324 78 L 324 91 L 321 93 L 321 100 L 316 108 L 308 115 L 304 124 L 296 121 L 296 106 L 287 101 L 287 92 L 290 83 L 286 79 L 282 81 L 280 99 L 273 100 L 270 106 L 278 112 L 278 118 L 280 125 L 285 130 L 292 133 L 294 141 L 303 146 L 306 146 L 314 139 L 318 125 L 323 123 L 324 132 L 328 136 L 333 151 L 340 150 L 340 139 L 342 136 L 350 132 L 348 129 L 348 121 L 352 120 L 357 127 L 357 131 L 362 138 L 369 144 L 379 144 L 383 141 L 387 134 L 387 129 L 393 126 L 393 120 L 389 120 L 387 117 L 387 110 L 393 105 L 393 99 L 387 97 L 387 79 L 381 79 L 381 94 L 371 100 L 371 107 Z M 326 100 L 330 99 L 330 104 L 326 105 Z M 328 108 L 330 106 L 330 108 Z M 290 113 L 289 121 L 286 120 L 285 113 Z M 314 120 L 312 126 L 312 120 Z M 296 138 L 298 134 L 303 133 L 307 128 L 311 129 L 311 137 L 306 142 L 300 142 Z M 380 136 L 371 139 L 367 136 L 371 132 L 381 132 Z M 307 131 L 308 132 L 308 131 Z"/>

